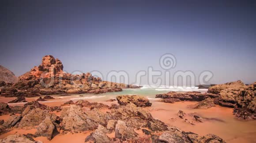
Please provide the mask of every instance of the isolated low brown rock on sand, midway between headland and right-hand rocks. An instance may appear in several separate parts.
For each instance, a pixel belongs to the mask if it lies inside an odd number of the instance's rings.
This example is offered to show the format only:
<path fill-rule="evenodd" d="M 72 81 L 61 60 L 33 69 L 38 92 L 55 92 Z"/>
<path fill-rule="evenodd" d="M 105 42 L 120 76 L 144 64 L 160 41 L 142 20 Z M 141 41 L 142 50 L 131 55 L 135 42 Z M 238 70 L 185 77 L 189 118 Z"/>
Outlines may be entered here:
<path fill-rule="evenodd" d="M 151 106 L 151 103 L 146 97 L 138 96 L 138 95 L 123 95 L 117 96 L 118 104 L 126 105 L 128 103 L 133 103 L 137 107 L 148 107 Z"/>

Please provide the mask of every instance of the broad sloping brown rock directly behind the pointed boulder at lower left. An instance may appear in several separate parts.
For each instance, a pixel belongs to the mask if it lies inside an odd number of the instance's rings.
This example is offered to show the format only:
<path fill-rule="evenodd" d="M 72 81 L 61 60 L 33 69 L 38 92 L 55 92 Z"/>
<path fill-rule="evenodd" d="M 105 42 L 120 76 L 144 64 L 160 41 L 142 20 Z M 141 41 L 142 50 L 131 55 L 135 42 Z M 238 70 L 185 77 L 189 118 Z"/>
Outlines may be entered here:
<path fill-rule="evenodd" d="M 57 116 L 40 108 L 32 109 L 23 116 L 18 126 L 23 128 L 39 125 L 45 118 L 50 118 L 52 122 L 55 122 Z"/>

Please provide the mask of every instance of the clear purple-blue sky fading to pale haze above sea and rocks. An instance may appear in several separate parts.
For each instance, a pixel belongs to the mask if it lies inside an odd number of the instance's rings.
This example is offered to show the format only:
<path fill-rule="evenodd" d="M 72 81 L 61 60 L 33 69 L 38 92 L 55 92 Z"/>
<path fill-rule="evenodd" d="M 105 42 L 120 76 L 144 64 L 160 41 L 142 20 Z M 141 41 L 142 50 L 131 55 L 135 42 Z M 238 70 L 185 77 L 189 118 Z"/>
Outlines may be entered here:
<path fill-rule="evenodd" d="M 53 55 L 67 72 L 125 71 L 131 83 L 148 67 L 166 72 L 169 53 L 168 71 L 196 84 L 203 71 L 208 83 L 252 83 L 255 15 L 252 0 L 1 0 L 0 65 L 19 76 Z"/>

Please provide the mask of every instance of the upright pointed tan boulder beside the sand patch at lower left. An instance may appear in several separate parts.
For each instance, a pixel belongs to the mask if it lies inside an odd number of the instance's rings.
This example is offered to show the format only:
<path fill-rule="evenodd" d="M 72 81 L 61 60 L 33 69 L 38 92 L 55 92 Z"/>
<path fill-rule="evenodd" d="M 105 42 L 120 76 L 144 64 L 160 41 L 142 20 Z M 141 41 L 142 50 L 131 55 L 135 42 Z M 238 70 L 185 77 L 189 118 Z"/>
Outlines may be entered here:
<path fill-rule="evenodd" d="M 55 126 L 50 117 L 46 117 L 43 122 L 38 125 L 36 136 L 46 136 L 47 139 L 51 140 L 53 138 L 53 131 Z"/>

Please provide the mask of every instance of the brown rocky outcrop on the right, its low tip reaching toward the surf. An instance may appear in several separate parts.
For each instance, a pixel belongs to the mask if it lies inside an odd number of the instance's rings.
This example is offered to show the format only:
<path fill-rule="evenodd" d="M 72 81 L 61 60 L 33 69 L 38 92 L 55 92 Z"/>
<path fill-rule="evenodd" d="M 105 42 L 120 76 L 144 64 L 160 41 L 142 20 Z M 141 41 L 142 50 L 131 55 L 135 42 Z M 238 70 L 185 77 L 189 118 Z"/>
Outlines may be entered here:
<path fill-rule="evenodd" d="M 207 93 L 169 92 L 157 94 L 156 98 L 162 98 L 162 102 L 174 103 L 179 101 L 201 101 L 203 106 L 217 104 L 222 107 L 234 108 L 233 114 L 240 119 L 256 119 L 256 82 L 245 85 L 240 80 L 209 87 Z M 202 105 L 199 105 L 202 108 Z"/>

